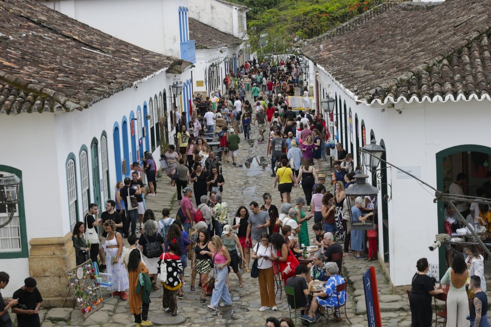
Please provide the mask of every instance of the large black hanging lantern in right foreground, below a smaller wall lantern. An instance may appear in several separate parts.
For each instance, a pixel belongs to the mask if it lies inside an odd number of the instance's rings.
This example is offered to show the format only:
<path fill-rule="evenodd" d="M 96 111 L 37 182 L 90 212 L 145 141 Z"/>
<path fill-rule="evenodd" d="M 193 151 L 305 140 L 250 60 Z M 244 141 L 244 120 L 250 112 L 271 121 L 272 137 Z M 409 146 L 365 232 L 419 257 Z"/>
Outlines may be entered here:
<path fill-rule="evenodd" d="M 346 189 L 346 200 L 348 201 L 348 206 L 350 208 L 349 215 L 351 218 L 351 229 L 375 229 L 375 220 L 373 219 L 374 216 L 370 216 L 365 220 L 359 220 L 359 217 L 353 216 L 353 207 L 357 206 L 360 209 L 362 217 L 365 217 L 365 215 L 369 214 L 370 212 L 374 212 L 375 215 L 377 210 L 377 194 L 379 190 L 377 187 L 374 187 L 367 183 L 368 175 L 364 173 L 356 174 L 354 178 L 356 179 L 356 183 Z M 373 203 L 372 208 L 365 207 L 364 204 L 366 196 L 370 197 L 370 202 Z M 357 203 L 360 201 L 361 205 Z"/>

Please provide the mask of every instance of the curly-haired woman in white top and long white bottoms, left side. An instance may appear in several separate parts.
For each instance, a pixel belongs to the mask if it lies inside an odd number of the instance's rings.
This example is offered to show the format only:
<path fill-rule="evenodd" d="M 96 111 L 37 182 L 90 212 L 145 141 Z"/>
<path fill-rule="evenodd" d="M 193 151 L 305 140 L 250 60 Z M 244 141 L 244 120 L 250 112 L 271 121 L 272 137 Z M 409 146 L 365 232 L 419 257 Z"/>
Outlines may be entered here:
<path fill-rule="evenodd" d="M 103 228 L 107 232 L 106 265 L 107 273 L 111 274 L 111 283 L 114 283 L 113 296 L 121 296 L 121 299 L 126 301 L 128 300 L 128 295 L 125 292 L 129 286 L 128 273 L 120 262 L 123 252 L 123 235 L 116 232 L 116 224 L 111 219 L 104 222 Z"/>

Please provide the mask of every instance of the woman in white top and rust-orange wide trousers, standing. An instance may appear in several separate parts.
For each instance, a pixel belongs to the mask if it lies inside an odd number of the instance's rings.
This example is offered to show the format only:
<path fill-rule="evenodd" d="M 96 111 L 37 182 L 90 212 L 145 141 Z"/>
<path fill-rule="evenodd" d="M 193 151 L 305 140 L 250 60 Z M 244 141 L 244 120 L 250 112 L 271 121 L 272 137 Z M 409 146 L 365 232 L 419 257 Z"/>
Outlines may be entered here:
<path fill-rule="evenodd" d="M 273 264 L 269 260 L 271 257 L 272 246 L 269 244 L 267 233 L 261 234 L 260 242 L 252 248 L 252 260 L 257 259 L 257 268 L 259 275 L 259 296 L 261 298 L 261 307 L 259 311 L 278 311 L 276 307 L 276 299 L 274 294 L 274 272 Z"/>

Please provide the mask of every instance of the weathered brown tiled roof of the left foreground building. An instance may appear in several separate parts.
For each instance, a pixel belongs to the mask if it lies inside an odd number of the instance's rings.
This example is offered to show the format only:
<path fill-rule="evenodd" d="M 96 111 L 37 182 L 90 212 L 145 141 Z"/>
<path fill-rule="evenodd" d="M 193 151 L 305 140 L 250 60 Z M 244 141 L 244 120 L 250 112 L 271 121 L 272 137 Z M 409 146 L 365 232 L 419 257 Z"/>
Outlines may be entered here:
<path fill-rule="evenodd" d="M 82 110 L 153 74 L 190 65 L 36 1 L 0 0 L 0 113 Z"/>

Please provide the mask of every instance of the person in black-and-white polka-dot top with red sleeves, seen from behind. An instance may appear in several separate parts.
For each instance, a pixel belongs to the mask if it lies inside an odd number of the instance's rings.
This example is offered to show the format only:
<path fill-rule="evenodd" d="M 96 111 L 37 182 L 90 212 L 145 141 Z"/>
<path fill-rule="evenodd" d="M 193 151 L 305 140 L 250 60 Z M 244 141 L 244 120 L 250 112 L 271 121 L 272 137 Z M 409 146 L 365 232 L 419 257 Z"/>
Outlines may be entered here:
<path fill-rule="evenodd" d="M 164 296 L 162 297 L 162 308 L 172 317 L 178 315 L 177 310 L 177 290 L 182 286 L 179 273 L 183 270 L 181 264 L 181 246 L 177 239 L 172 239 L 168 245 L 169 252 L 160 256 L 160 261 L 165 261 L 167 269 L 167 279 L 162 282 L 164 286 Z M 159 270 L 161 265 L 159 264 Z"/>

